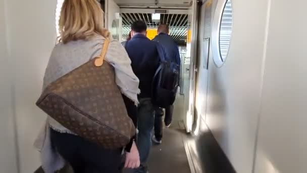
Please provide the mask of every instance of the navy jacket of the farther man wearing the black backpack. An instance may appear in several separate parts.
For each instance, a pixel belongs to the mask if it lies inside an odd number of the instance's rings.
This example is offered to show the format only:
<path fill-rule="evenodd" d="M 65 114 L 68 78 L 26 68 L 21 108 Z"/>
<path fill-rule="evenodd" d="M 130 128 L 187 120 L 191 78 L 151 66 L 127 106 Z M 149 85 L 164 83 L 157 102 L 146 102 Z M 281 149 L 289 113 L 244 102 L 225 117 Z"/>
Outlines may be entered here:
<path fill-rule="evenodd" d="M 169 61 L 180 65 L 180 54 L 176 42 L 166 33 L 160 33 L 153 40 L 158 41 L 163 47 Z"/>

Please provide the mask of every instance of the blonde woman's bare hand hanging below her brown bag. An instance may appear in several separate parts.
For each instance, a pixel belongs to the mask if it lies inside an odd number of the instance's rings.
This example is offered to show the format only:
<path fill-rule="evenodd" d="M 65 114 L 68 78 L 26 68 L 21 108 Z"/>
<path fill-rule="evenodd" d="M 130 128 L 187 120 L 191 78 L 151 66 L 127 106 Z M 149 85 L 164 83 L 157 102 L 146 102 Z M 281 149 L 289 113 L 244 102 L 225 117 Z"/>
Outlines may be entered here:
<path fill-rule="evenodd" d="M 135 142 L 133 142 L 130 152 L 126 152 L 125 168 L 137 168 L 140 166 L 140 155 L 136 148 Z"/>

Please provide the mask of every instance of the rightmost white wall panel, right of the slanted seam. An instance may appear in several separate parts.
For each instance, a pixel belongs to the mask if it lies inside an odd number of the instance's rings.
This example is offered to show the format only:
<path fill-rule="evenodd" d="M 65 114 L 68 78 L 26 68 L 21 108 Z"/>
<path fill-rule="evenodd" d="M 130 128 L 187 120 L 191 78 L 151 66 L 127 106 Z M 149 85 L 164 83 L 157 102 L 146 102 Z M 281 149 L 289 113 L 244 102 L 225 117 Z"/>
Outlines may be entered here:
<path fill-rule="evenodd" d="M 255 173 L 306 172 L 306 1 L 272 0 Z"/>

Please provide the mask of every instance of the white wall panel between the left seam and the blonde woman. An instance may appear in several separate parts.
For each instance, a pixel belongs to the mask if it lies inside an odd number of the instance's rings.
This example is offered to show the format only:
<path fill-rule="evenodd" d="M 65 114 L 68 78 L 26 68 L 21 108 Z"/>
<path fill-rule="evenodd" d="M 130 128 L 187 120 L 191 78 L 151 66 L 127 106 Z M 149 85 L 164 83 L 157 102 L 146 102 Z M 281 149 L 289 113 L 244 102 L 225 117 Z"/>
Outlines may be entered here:
<path fill-rule="evenodd" d="M 19 168 L 20 173 L 29 173 L 40 166 L 39 153 L 34 150 L 33 142 L 46 115 L 35 106 L 35 102 L 41 93 L 43 73 L 56 41 L 57 1 L 5 0 L 5 2 L 11 53 L 11 66 L 7 69 L 12 73 L 10 79 L 13 81 Z"/>

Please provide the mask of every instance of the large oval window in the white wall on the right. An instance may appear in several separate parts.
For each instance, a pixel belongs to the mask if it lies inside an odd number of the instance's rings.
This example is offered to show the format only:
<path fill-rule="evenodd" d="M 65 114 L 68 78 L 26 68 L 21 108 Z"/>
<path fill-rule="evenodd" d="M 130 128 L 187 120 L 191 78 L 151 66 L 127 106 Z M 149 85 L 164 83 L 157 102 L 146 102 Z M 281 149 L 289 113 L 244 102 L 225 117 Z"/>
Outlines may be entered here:
<path fill-rule="evenodd" d="M 229 52 L 232 33 L 232 1 L 219 1 L 213 21 L 212 51 L 215 64 L 221 67 Z"/>

